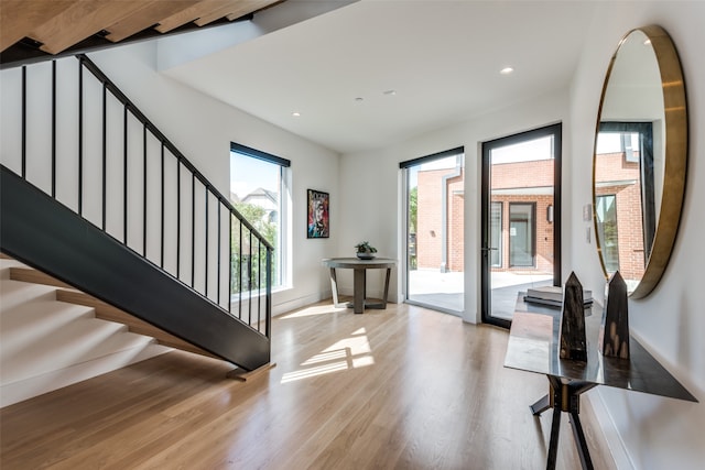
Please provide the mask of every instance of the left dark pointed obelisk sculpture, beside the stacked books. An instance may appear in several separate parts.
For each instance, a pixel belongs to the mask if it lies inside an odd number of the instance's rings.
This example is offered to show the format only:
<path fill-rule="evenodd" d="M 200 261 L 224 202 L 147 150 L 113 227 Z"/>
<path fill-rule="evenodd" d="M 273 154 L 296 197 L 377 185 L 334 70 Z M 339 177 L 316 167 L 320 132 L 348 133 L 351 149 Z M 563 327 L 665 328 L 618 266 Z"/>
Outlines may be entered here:
<path fill-rule="evenodd" d="M 571 273 L 563 287 L 563 314 L 561 315 L 561 359 L 587 361 L 585 339 L 585 306 L 583 286 L 575 273 Z"/>

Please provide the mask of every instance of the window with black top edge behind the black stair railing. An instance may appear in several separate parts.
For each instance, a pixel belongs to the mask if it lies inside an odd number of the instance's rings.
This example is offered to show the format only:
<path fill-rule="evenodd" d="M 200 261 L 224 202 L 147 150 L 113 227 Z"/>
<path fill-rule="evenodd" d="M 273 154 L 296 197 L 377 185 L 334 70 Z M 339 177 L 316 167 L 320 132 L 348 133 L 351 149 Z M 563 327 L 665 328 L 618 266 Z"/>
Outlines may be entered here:
<path fill-rule="evenodd" d="M 274 247 L 272 287 L 288 283 L 290 166 L 285 159 L 230 144 L 230 200 Z"/>

